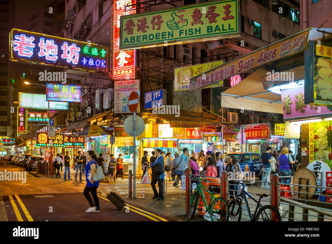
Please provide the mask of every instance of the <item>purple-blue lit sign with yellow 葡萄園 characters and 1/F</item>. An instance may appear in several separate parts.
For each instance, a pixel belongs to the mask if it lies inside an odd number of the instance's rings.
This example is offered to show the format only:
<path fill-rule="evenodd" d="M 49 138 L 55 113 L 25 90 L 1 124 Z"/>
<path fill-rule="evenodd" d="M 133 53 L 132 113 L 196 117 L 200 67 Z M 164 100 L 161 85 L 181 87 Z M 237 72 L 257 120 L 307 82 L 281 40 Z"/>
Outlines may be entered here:
<path fill-rule="evenodd" d="M 46 101 L 52 102 L 82 102 L 81 86 L 46 83 Z"/>

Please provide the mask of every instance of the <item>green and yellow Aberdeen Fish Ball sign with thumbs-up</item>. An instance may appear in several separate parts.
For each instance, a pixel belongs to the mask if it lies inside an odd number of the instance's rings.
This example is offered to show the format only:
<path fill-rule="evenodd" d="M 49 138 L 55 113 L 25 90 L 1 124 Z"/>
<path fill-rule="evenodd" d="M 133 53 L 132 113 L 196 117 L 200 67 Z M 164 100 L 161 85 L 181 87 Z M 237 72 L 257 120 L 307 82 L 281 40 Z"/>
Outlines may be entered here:
<path fill-rule="evenodd" d="M 239 0 L 201 4 L 121 16 L 120 49 L 239 37 Z"/>

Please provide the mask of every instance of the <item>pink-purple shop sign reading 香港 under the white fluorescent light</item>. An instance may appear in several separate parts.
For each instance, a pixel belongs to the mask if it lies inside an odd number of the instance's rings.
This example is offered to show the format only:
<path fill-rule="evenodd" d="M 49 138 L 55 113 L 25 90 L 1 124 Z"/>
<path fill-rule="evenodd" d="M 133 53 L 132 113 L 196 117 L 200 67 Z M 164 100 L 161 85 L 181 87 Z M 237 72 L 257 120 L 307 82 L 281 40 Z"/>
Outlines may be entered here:
<path fill-rule="evenodd" d="M 307 117 L 332 113 L 332 109 L 326 106 L 304 104 L 304 86 L 281 91 L 281 100 L 284 109 L 284 118 Z"/>

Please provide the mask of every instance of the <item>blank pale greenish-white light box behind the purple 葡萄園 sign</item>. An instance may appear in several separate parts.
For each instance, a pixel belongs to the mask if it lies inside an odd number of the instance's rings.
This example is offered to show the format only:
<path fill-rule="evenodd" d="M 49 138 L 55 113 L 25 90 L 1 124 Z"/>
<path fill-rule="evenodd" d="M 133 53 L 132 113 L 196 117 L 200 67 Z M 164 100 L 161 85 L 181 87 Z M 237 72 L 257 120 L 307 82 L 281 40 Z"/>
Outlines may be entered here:
<path fill-rule="evenodd" d="M 48 110 L 46 94 L 19 92 L 19 107 L 27 109 Z M 68 103 L 49 102 L 49 110 L 68 110 Z"/>

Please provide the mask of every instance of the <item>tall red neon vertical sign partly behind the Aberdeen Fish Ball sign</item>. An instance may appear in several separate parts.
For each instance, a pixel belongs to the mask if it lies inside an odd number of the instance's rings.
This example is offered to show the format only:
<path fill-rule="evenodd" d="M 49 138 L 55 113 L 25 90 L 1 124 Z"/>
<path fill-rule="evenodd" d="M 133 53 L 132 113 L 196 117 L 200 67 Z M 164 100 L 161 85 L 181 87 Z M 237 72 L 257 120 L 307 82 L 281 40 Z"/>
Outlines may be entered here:
<path fill-rule="evenodd" d="M 113 9 L 113 79 L 132 80 L 135 79 L 135 50 L 120 50 L 120 17 L 136 13 L 136 7 L 130 6 L 136 0 L 114 0 Z"/>

